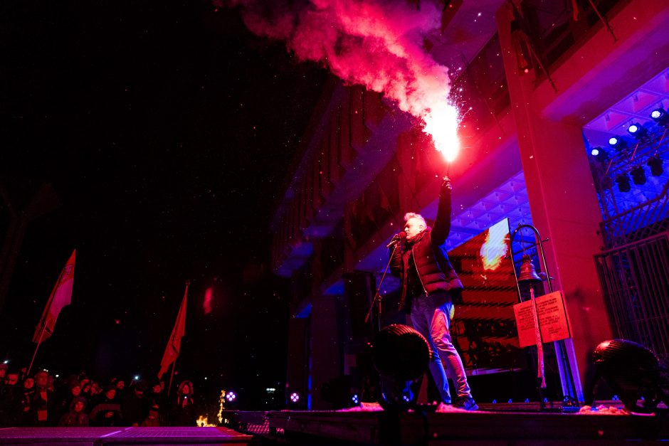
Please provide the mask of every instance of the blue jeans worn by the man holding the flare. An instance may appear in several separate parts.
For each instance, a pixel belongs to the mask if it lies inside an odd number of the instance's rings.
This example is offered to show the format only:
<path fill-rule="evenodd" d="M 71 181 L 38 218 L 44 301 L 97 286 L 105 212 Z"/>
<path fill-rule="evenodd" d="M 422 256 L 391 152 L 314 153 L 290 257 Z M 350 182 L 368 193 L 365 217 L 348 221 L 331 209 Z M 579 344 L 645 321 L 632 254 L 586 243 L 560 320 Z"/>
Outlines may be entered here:
<path fill-rule="evenodd" d="M 448 379 L 442 361 L 446 363 L 448 374 L 455 383 L 458 398 L 470 397 L 471 390 L 467 383 L 463 361 L 451 342 L 451 333 L 448 330 L 451 327 L 450 314 L 453 302 L 451 299 L 446 300 L 448 302 L 439 305 L 444 301 L 443 294 L 431 296 L 423 294 L 414 297 L 411 301 L 411 322 L 413 328 L 430 343 L 434 352 L 430 361 L 430 372 L 441 394 L 441 400 L 444 403 L 451 403 L 451 392 L 448 391 Z"/>

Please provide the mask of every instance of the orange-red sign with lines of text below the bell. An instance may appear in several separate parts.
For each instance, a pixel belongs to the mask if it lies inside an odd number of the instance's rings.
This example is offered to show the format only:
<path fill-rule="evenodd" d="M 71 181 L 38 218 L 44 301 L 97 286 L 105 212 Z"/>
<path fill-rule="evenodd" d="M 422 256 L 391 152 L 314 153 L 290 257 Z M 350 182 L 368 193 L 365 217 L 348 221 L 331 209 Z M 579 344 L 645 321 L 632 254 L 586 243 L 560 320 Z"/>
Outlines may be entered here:
<path fill-rule="evenodd" d="M 564 307 L 564 299 L 562 299 L 561 292 L 556 291 L 545 294 L 534 299 L 534 302 L 537 303 L 537 316 L 544 343 L 571 337 L 571 328 L 569 327 L 567 310 Z M 513 312 L 516 317 L 520 346 L 537 345 L 532 301 L 527 300 L 520 304 L 515 304 Z"/>

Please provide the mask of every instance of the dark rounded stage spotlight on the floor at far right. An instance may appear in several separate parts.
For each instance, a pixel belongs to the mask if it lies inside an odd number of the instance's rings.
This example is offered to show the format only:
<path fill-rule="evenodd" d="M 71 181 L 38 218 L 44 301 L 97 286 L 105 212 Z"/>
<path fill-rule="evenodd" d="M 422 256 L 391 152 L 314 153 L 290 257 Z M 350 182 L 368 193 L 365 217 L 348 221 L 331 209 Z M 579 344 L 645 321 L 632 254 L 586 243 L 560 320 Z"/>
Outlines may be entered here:
<path fill-rule="evenodd" d="M 652 351 L 636 342 L 611 339 L 599 344 L 594 351 L 595 373 L 586 404 L 592 405 L 601 378 L 606 381 L 625 404 L 634 412 L 653 412 L 662 401 L 669 405 L 666 373 Z M 643 399 L 643 408 L 637 401 Z"/>

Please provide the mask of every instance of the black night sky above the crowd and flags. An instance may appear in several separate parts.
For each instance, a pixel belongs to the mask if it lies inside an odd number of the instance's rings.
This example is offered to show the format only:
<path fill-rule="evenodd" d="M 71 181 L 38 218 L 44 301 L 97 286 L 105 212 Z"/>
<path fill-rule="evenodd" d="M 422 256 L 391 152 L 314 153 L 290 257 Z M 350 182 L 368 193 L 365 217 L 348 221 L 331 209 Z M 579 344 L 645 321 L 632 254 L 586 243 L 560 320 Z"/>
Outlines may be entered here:
<path fill-rule="evenodd" d="M 0 356 L 29 362 L 76 248 L 36 366 L 153 378 L 191 280 L 175 381 L 249 399 L 283 383 L 290 285 L 269 225 L 325 70 L 206 0 L 8 1 L 0 17 L 0 184 L 19 208 L 43 182 L 58 197 L 26 230 Z"/>

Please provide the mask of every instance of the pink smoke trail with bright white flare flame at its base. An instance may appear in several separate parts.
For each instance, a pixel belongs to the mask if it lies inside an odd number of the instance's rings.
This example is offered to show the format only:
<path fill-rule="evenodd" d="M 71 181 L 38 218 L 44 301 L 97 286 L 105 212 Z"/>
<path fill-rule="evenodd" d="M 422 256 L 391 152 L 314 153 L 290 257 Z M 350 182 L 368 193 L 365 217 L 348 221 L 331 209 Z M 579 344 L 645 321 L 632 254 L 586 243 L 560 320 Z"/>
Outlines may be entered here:
<path fill-rule="evenodd" d="M 214 0 L 221 1 L 221 0 Z M 223 4 L 223 3 L 221 3 Z M 458 110 L 448 102 L 448 68 L 423 49 L 423 38 L 441 26 L 430 1 L 234 0 L 246 26 L 286 42 L 300 60 L 325 64 L 349 84 L 362 84 L 394 100 L 423 122 L 446 161 L 458 155 Z"/>

